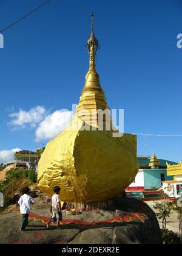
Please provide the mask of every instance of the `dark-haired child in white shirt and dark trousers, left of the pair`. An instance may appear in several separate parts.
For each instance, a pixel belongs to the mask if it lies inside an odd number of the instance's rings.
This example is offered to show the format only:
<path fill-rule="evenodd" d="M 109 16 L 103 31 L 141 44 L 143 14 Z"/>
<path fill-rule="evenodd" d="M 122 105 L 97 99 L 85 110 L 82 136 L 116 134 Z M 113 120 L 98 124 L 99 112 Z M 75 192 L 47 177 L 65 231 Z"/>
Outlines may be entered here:
<path fill-rule="evenodd" d="M 29 219 L 29 213 L 30 213 L 30 203 L 33 204 L 33 199 L 31 196 L 29 196 L 30 188 L 25 187 L 22 189 L 22 196 L 20 197 L 18 204 L 19 204 L 19 210 L 22 214 L 21 219 L 21 229 L 22 231 L 25 230 L 25 227 L 27 226 L 28 219 Z"/>

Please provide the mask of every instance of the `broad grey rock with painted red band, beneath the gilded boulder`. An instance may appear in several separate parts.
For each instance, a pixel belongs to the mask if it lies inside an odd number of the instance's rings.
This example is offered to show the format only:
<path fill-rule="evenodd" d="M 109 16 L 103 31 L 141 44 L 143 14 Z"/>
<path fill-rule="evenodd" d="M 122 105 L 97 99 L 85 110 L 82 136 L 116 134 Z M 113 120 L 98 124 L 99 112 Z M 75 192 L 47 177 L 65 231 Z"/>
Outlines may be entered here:
<path fill-rule="evenodd" d="M 18 209 L 17 209 L 18 210 Z M 61 229 L 47 229 L 50 206 L 32 208 L 30 227 L 19 231 L 19 211 L 0 214 L 0 243 L 61 244 L 160 244 L 160 227 L 155 213 L 144 202 L 116 197 L 106 207 L 66 215 Z"/>

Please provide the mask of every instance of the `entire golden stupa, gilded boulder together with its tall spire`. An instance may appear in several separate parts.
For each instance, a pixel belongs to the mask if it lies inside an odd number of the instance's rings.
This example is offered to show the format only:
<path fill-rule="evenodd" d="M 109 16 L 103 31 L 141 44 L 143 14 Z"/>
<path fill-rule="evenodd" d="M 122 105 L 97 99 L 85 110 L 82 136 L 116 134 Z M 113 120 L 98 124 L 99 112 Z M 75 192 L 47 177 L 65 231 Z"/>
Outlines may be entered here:
<path fill-rule="evenodd" d="M 89 71 L 76 115 L 58 137 L 50 141 L 38 164 L 38 187 L 52 196 L 61 187 L 61 200 L 90 204 L 112 199 L 135 179 L 138 171 L 136 136 L 113 137 L 107 100 L 95 69 L 98 40 L 87 42 Z M 103 118 L 98 115 L 104 110 Z M 110 127 L 110 129 L 108 129 Z"/>

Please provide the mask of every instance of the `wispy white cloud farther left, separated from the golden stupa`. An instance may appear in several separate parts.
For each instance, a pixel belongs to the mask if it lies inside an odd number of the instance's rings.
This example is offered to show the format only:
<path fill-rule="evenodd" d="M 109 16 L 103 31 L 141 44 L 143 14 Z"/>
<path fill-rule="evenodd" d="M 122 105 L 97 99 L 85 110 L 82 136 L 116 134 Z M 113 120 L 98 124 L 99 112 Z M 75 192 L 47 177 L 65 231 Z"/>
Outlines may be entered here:
<path fill-rule="evenodd" d="M 22 110 L 20 108 L 19 112 L 11 113 L 9 116 L 13 118 L 10 121 L 10 125 L 14 128 L 24 128 L 29 125 L 31 128 L 36 127 L 47 115 L 47 110 L 44 107 L 36 106 L 31 108 L 29 111 Z"/>

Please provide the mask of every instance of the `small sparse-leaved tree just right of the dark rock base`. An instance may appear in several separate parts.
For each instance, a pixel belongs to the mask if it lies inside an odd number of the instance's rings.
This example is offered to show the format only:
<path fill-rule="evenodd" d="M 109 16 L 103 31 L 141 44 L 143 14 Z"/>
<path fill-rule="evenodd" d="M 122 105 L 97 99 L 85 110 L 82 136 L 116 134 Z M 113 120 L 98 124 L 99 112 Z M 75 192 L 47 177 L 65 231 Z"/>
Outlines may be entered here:
<path fill-rule="evenodd" d="M 163 230 L 166 230 L 166 218 L 169 217 L 170 213 L 172 212 L 172 202 L 169 201 L 168 196 L 164 194 L 163 200 L 160 202 L 155 202 L 153 208 L 159 211 L 159 213 L 157 213 L 157 217 L 162 219 Z"/>

